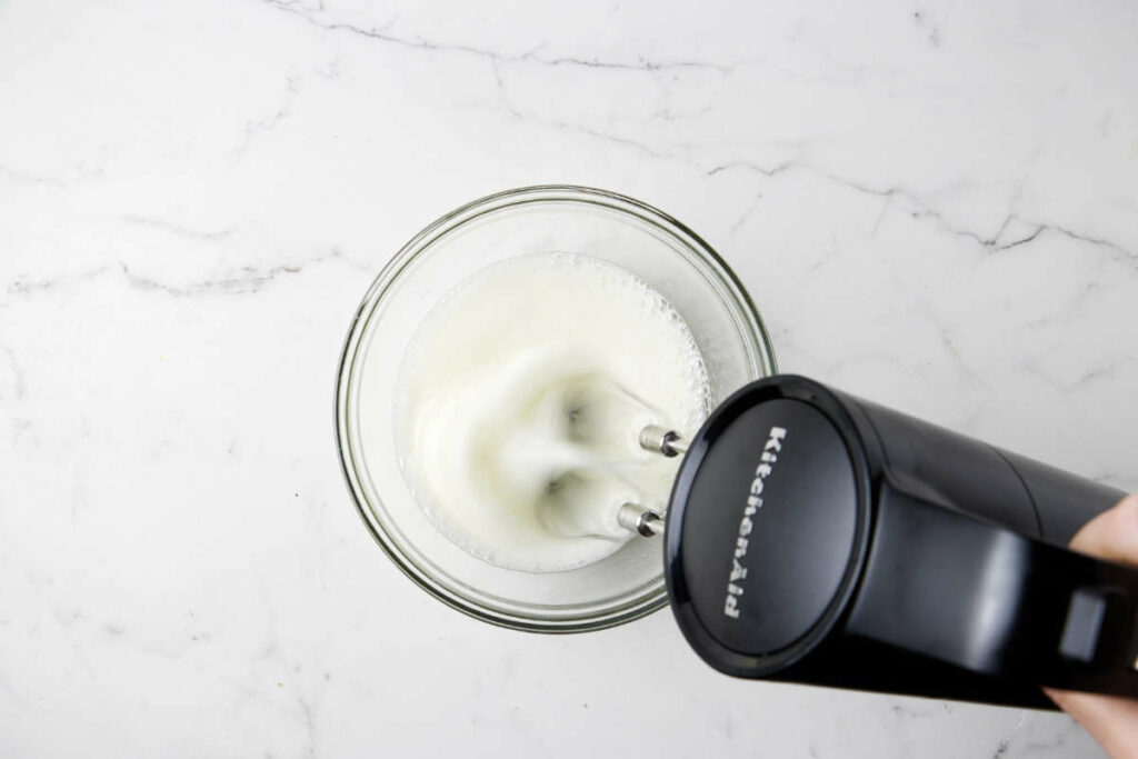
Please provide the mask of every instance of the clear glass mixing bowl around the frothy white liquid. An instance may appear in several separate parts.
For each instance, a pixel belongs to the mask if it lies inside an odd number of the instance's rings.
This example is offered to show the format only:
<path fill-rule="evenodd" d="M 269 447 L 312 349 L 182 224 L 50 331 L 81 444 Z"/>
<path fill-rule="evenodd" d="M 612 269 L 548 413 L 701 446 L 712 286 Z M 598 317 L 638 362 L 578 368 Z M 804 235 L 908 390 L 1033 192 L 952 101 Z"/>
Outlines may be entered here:
<path fill-rule="evenodd" d="M 619 625 L 667 603 L 660 538 L 561 572 L 486 563 L 442 535 L 399 469 L 393 402 L 401 356 L 438 300 L 476 271 L 517 255 L 585 253 L 636 274 L 683 315 L 718 404 L 775 371 L 770 340 L 743 287 L 707 242 L 670 216 L 613 192 L 531 187 L 476 200 L 417 234 L 364 296 L 336 389 L 340 462 L 372 535 L 411 579 L 472 617 L 569 633 Z"/>

